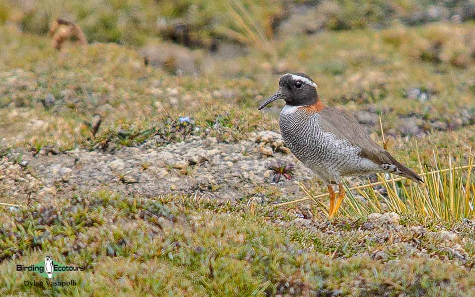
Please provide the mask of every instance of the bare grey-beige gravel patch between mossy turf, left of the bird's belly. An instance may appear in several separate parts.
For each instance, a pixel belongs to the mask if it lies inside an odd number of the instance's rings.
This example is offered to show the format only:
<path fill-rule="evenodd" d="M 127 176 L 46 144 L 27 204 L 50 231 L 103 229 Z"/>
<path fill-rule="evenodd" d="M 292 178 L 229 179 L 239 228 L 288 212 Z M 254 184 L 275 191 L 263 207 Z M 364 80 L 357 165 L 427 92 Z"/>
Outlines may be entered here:
<path fill-rule="evenodd" d="M 20 153 L 22 163 L 13 164 Z M 42 149 L 33 156 L 32 152 L 17 149 L 7 157 L 2 160 L 2 168 L 6 169 L 0 176 L 3 184 L 16 185 L 8 190 L 12 197 L 71 197 L 110 189 L 145 197 L 198 193 L 215 199 L 265 201 L 265 190 L 278 188 L 287 200 L 303 196 L 296 182 L 313 178 L 309 169 L 290 154 L 281 135 L 273 131 L 250 133 L 247 139 L 235 143 L 193 136 L 186 142 L 158 146 L 152 138 L 140 147 L 114 152 L 74 149 L 54 154 L 51 149 Z M 267 167 L 276 160 L 296 164 L 293 180 L 271 184 L 274 172 Z M 34 187 L 14 181 L 27 172 L 36 177 Z"/>

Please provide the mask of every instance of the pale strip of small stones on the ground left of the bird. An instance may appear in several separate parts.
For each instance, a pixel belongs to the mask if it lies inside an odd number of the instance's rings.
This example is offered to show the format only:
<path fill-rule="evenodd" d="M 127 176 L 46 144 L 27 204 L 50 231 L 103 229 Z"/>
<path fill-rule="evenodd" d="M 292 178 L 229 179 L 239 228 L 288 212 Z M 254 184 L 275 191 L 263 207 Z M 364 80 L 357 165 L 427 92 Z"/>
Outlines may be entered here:
<path fill-rule="evenodd" d="M 8 162 L 7 167 L 19 170 L 22 175 L 16 178 L 18 182 L 9 179 L 8 183 L 3 184 L 9 186 L 13 183 L 15 186 L 14 183 L 22 183 L 25 191 L 27 188 L 28 191 L 35 188 L 37 192 L 32 193 L 33 198 L 52 197 L 53 194 L 46 189 L 53 186 L 59 177 L 59 181 L 64 182 L 62 190 L 70 194 L 77 190 L 94 191 L 101 185 L 110 185 L 119 192 L 128 191 L 130 188 L 125 188 L 124 185 L 134 184 L 133 191 L 138 194 L 158 195 L 170 190 L 192 193 L 191 191 L 200 189 L 203 194 L 211 197 L 240 199 L 249 195 L 257 185 L 265 187 L 269 184 L 270 171 L 266 168 L 267 164 L 263 158 L 275 156 L 289 162 L 293 160 L 292 156 L 285 154 L 286 147 L 280 134 L 261 131 L 259 135 L 249 133 L 248 136 L 259 138 L 259 141 L 248 139 L 224 143 L 218 142 L 215 137 L 205 138 L 195 135 L 185 142 L 168 145 L 162 145 L 163 142 L 160 142 L 160 146 L 157 146 L 157 141 L 151 138 L 139 147 L 120 148 L 114 151 L 90 152 L 85 149 L 74 149 L 64 154 L 39 156 L 45 158 L 41 162 L 31 160 L 26 154 L 24 160 L 29 162 L 28 166 L 32 167 L 35 176 L 39 176 L 41 180 L 31 175 L 28 179 L 24 178 L 29 173 L 28 170 L 21 170 L 20 164 Z M 242 147 L 246 150 L 244 153 Z M 72 167 L 76 158 L 80 159 L 80 162 Z M 193 170 L 188 172 L 187 168 L 190 165 L 193 166 Z M 134 173 L 124 175 L 127 170 L 134 170 Z M 114 173 L 111 174 L 111 171 Z M 308 174 L 303 165 L 296 172 L 296 180 L 301 180 L 298 172 Z M 1 180 L 3 175 L 5 174 L 1 172 L 0 186 L 3 185 Z M 117 178 L 117 175 L 121 178 Z M 43 190 L 40 187 L 44 187 Z M 17 188 L 13 189 L 16 191 Z M 55 186 L 51 189 L 53 191 Z M 281 188 L 281 191 L 284 195 L 296 195 L 298 185 L 288 183 L 285 188 Z"/>

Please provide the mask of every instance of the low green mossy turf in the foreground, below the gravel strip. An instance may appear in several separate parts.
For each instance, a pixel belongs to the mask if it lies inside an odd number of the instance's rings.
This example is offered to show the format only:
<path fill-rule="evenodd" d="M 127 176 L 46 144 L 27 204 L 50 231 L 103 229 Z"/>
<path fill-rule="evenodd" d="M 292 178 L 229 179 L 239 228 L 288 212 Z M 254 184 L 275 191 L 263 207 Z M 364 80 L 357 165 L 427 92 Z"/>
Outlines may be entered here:
<path fill-rule="evenodd" d="M 334 250 L 326 250 L 332 245 L 339 252 L 354 253 L 357 247 L 345 249 L 341 235 L 329 237 L 331 233 L 308 237 L 307 241 L 322 241 L 314 245 L 320 252 L 309 251 L 300 246 L 308 242 L 295 233 L 302 228 L 279 227 L 273 221 L 285 215 L 262 206 L 251 213 L 245 207 L 230 208 L 229 204 L 199 198 L 144 199 L 109 191 L 71 201 L 56 199 L 52 204 L 35 203 L 16 212 L 2 210 L 1 256 L 21 255 L 21 262 L 29 264 L 39 262 L 48 252 L 58 262 L 87 267 L 85 272 L 58 277 L 74 278 L 80 285 L 30 288 L 23 280 L 41 278 L 11 269 L 18 260 L 3 261 L 1 294 L 100 296 L 109 295 L 110 286 L 114 286 L 119 295 L 137 296 L 164 291 L 189 296 L 335 292 L 430 296 L 450 295 L 457 287 L 460 294 L 470 296 L 474 285 L 473 270 L 443 261 L 443 251 L 437 251 L 432 259 L 397 263 L 374 261 L 368 255 L 332 259 Z M 362 222 L 341 221 L 341 232 L 351 233 L 353 228 L 345 225 L 358 228 Z M 440 241 L 431 234 L 420 240 L 427 248 Z M 378 247 L 375 242 L 371 245 Z M 361 283 L 363 279 L 366 281 Z"/>

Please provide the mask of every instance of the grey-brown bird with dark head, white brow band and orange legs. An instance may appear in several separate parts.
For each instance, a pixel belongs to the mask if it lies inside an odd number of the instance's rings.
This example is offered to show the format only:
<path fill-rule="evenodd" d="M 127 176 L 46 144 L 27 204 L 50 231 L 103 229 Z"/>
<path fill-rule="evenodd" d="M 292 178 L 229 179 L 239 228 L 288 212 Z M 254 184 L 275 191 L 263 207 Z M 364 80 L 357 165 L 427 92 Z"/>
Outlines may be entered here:
<path fill-rule="evenodd" d="M 282 138 L 292 154 L 327 186 L 330 219 L 345 197 L 344 176 L 388 172 L 423 183 L 417 173 L 373 141 L 353 117 L 326 106 L 318 96 L 317 84 L 305 73 L 282 75 L 277 93 L 258 110 L 280 99 L 285 101 L 279 115 Z M 332 185 L 336 184 L 339 193 L 335 201 Z"/>

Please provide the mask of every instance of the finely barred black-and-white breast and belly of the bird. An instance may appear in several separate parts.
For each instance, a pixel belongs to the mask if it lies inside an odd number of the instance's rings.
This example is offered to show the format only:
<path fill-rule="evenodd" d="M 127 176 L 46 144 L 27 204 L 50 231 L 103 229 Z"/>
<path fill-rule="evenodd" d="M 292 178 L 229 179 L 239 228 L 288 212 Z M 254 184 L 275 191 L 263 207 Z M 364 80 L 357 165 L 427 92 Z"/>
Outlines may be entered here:
<path fill-rule="evenodd" d="M 320 114 L 286 105 L 279 119 L 280 133 L 292 154 L 329 183 L 340 176 L 379 171 L 376 164 L 360 158 L 361 149 L 338 139 L 319 125 Z"/>

